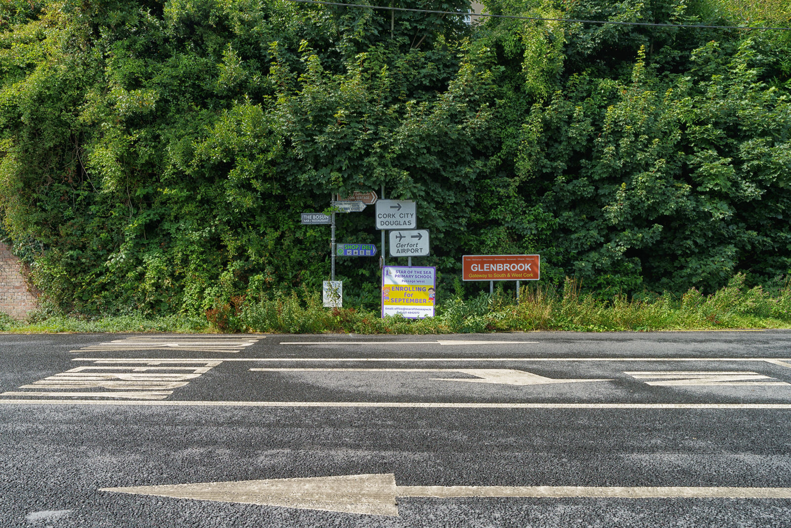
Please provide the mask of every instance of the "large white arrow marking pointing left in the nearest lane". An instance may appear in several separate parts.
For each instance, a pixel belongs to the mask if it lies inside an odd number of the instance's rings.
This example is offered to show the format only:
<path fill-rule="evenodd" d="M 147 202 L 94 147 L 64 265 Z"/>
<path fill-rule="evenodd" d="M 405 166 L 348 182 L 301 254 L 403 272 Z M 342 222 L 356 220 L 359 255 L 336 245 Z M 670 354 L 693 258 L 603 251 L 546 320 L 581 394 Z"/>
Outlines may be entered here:
<path fill-rule="evenodd" d="M 593 486 L 397 486 L 392 473 L 200 482 L 100 488 L 100 492 L 214 500 L 362 515 L 398 516 L 396 497 L 532 497 L 598 499 L 789 499 L 791 488 L 593 487 Z"/>

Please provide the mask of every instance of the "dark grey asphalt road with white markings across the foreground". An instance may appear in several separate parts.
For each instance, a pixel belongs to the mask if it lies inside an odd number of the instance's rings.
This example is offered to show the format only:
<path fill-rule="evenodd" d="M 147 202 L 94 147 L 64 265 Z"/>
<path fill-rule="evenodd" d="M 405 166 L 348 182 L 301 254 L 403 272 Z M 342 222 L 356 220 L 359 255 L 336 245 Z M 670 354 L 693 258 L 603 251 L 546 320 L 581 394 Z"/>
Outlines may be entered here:
<path fill-rule="evenodd" d="M 791 526 L 789 345 L 3 335 L 0 526 Z"/>

